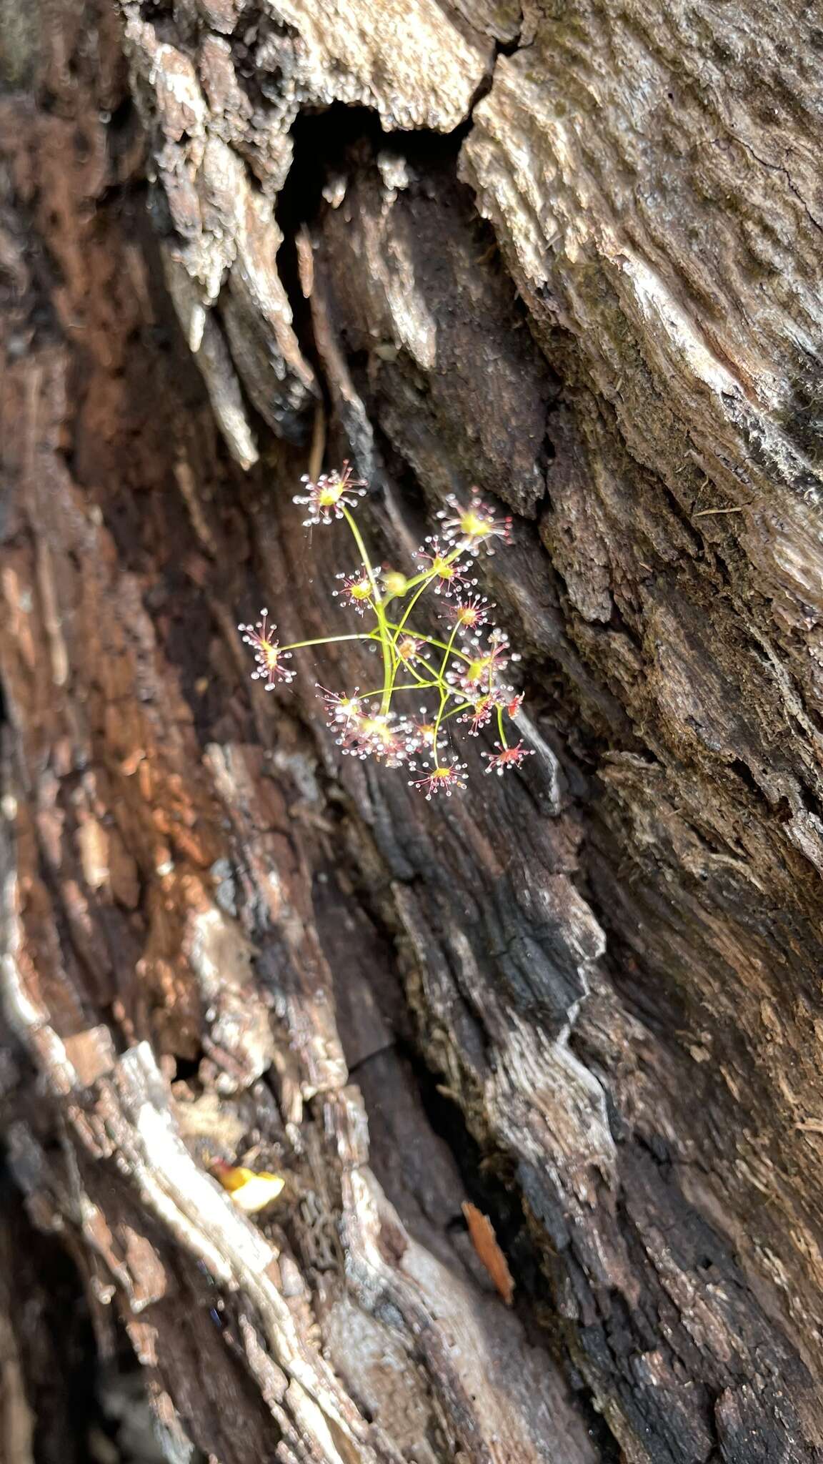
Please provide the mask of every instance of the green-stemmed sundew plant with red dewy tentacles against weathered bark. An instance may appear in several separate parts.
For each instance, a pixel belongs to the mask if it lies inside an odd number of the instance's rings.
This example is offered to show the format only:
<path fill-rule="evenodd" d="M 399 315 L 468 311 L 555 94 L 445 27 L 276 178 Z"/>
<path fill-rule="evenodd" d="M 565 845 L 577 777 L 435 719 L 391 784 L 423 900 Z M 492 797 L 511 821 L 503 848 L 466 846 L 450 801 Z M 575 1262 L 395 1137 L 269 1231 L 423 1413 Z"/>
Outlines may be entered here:
<path fill-rule="evenodd" d="M 382 685 L 369 691 L 327 691 L 318 687 L 337 745 L 350 757 L 373 757 L 387 767 L 406 767 L 420 776 L 409 779 L 428 799 L 433 793 L 461 791 L 467 764 L 453 747 L 457 728 L 477 736 L 482 728 L 496 731 L 494 752 L 483 752 L 486 773 L 502 774 L 517 767 L 530 748 L 510 742 L 507 726 L 517 716 L 523 692 L 505 679 L 513 653 L 505 631 L 491 624 L 494 605 L 476 593 L 472 571 L 482 553 L 511 543 L 511 520 L 494 511 L 473 489 L 466 504 L 447 498 L 438 512 L 441 529 L 416 553 L 416 572 L 375 568 L 357 527 L 356 511 L 366 485 L 354 479 L 347 463 L 340 473 L 322 473 L 316 482 L 303 477 L 305 493 L 294 498 L 308 508 L 306 527 L 346 523 L 356 549 L 356 568 L 338 574 L 334 593 L 370 628 L 349 635 L 281 646 L 277 625 L 261 610 L 256 625 L 239 630 L 255 653 L 252 679 L 267 691 L 290 682 L 293 651 L 338 641 L 366 641 L 382 657 Z M 436 597 L 444 630 L 429 635 L 417 628 L 425 594 Z"/>

